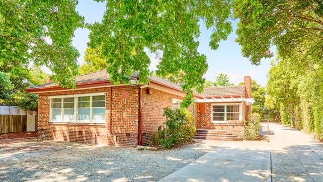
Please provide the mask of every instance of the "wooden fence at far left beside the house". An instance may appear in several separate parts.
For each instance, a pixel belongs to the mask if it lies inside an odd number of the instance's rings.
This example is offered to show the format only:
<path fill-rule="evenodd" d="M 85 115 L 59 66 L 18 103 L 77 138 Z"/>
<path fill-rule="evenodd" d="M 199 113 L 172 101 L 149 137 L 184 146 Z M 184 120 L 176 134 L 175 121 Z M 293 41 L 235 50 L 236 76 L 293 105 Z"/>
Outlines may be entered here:
<path fill-rule="evenodd" d="M 0 133 L 36 131 L 37 111 L 0 105 Z"/>

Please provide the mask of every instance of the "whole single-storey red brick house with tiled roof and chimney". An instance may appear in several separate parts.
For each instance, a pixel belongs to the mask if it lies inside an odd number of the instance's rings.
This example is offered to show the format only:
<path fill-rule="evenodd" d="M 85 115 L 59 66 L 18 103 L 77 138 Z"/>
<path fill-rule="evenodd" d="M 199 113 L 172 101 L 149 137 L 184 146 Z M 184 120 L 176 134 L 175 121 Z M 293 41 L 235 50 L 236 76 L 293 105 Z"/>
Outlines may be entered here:
<path fill-rule="evenodd" d="M 178 108 L 185 92 L 158 77 L 139 85 L 137 79 L 134 74 L 132 86 L 115 86 L 101 70 L 78 76 L 75 90 L 51 81 L 26 89 L 39 96 L 37 136 L 107 146 L 147 144 L 165 121 L 163 108 Z M 251 79 L 244 80 L 245 86 L 206 88 L 202 94 L 195 94 L 195 103 L 188 108 L 195 127 L 236 132 L 228 121 L 243 121 L 250 112 Z"/>

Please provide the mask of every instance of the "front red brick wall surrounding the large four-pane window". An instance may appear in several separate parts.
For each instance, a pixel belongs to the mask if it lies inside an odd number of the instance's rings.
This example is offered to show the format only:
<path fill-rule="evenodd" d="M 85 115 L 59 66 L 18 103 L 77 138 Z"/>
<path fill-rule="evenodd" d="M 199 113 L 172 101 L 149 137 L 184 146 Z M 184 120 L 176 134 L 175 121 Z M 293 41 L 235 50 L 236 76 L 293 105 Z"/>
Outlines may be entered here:
<path fill-rule="evenodd" d="M 110 100 L 112 90 L 112 130 L 110 131 Z M 121 92 L 128 91 L 129 97 L 122 98 Z M 50 95 L 106 92 L 106 123 L 49 123 Z M 38 137 L 45 134 L 48 140 L 73 141 L 99 145 L 137 145 L 138 136 L 138 87 L 120 86 L 78 91 L 58 91 L 39 94 Z M 116 136 L 116 141 L 114 140 Z"/>

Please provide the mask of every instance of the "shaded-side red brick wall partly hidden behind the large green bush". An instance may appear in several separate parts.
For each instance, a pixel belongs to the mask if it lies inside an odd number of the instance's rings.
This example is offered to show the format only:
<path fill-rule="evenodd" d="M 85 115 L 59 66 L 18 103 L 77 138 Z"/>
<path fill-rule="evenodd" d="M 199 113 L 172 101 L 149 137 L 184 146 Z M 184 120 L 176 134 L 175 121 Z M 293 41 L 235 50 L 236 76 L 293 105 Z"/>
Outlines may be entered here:
<path fill-rule="evenodd" d="M 166 117 L 162 116 L 163 108 L 172 107 L 172 98 L 184 99 L 155 89 L 151 89 L 152 94 L 149 94 L 149 89 L 151 88 L 142 89 L 141 92 L 143 144 L 147 144 L 152 139 L 154 131 L 166 121 Z"/>

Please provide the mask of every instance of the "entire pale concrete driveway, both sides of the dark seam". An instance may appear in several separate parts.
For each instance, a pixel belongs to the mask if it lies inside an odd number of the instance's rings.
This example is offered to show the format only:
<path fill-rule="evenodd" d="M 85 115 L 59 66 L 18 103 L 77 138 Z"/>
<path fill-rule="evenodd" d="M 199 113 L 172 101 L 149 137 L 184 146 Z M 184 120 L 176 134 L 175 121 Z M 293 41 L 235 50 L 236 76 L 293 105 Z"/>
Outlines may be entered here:
<path fill-rule="evenodd" d="M 211 141 L 216 148 L 160 182 L 323 182 L 323 144 L 270 123 L 270 142 Z M 270 165 L 271 152 L 271 165 Z"/>

